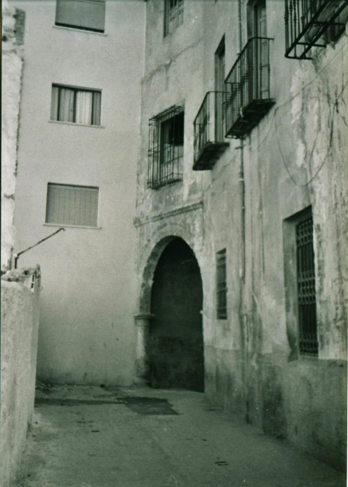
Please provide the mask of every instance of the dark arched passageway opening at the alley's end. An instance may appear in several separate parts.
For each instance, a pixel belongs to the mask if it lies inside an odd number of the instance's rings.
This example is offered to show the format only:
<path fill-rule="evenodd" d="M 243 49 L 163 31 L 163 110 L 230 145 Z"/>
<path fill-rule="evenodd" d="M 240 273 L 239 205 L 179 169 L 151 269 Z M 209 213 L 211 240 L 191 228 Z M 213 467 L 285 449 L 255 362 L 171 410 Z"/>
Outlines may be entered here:
<path fill-rule="evenodd" d="M 193 251 L 181 238 L 166 246 L 151 290 L 150 385 L 204 390 L 203 288 Z"/>

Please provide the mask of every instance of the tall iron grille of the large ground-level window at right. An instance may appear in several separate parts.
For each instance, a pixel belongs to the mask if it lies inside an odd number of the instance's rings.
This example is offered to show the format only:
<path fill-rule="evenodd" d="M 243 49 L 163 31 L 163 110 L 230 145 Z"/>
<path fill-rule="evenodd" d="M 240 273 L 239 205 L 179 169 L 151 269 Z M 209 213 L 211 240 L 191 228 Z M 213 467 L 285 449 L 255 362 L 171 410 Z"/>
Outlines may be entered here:
<path fill-rule="evenodd" d="M 296 261 L 299 352 L 301 355 L 316 356 L 318 341 L 312 216 L 296 225 Z"/>

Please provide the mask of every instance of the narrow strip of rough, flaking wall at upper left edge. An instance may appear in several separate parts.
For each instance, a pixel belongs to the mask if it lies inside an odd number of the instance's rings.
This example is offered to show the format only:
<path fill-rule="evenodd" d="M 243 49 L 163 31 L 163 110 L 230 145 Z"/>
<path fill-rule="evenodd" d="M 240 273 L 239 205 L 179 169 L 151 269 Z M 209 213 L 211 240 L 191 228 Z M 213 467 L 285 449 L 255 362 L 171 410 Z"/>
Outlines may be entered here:
<path fill-rule="evenodd" d="M 15 176 L 17 135 L 23 66 L 25 14 L 2 2 L 1 102 L 1 269 L 9 267 L 15 241 Z"/>

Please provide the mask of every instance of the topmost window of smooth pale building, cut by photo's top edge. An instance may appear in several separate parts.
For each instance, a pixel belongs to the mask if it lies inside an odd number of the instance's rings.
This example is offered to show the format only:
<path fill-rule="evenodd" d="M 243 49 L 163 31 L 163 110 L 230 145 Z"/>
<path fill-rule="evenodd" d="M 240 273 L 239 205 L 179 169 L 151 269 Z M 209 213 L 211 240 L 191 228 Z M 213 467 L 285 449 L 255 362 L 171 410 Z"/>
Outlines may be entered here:
<path fill-rule="evenodd" d="M 105 0 L 56 0 L 56 25 L 104 32 Z"/>

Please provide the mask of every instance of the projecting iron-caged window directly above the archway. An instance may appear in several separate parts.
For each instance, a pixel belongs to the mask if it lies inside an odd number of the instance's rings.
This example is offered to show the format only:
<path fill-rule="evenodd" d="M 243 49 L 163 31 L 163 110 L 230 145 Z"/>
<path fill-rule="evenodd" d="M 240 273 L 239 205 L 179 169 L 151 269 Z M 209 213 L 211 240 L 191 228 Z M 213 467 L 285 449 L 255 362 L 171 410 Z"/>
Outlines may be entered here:
<path fill-rule="evenodd" d="M 174 105 L 149 121 L 148 187 L 182 180 L 184 109 Z"/>

